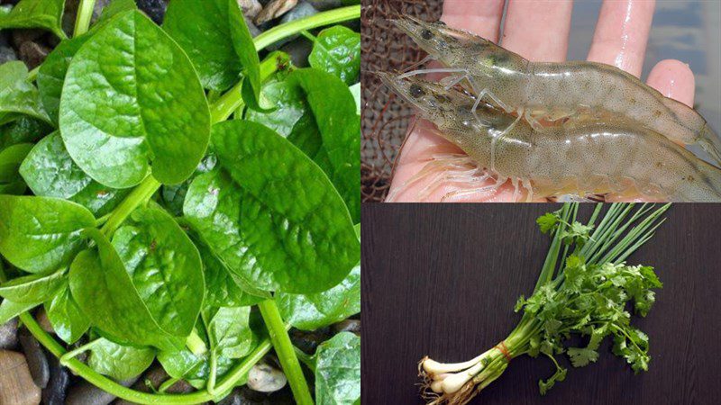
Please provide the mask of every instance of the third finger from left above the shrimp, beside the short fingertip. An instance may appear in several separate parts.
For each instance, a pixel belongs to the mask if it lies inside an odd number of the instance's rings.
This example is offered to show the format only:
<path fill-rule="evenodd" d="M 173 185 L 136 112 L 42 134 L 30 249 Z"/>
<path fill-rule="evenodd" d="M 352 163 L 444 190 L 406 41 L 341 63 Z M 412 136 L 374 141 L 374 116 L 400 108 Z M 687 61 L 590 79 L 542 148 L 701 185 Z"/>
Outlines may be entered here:
<path fill-rule="evenodd" d="M 589 60 L 641 76 L 655 1 L 606 0 L 598 14 Z"/>

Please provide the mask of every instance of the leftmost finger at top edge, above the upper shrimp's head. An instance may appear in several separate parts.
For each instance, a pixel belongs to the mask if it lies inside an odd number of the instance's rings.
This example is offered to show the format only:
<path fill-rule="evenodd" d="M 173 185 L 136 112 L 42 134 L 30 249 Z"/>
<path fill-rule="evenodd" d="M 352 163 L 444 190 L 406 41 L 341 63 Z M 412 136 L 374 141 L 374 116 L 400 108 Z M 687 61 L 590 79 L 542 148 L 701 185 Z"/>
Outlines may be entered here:
<path fill-rule="evenodd" d="M 441 20 L 453 28 L 498 41 L 504 0 L 446 0 Z"/>

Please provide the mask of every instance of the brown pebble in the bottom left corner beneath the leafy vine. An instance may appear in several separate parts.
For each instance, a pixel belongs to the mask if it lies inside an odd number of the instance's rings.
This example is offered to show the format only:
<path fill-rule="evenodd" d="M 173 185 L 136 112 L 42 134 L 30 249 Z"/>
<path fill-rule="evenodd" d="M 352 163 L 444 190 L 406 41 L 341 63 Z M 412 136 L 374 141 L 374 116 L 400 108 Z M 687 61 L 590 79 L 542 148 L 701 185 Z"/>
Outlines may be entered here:
<path fill-rule="evenodd" d="M 41 391 L 32 382 L 25 356 L 0 350 L 0 404 L 38 405 Z"/>

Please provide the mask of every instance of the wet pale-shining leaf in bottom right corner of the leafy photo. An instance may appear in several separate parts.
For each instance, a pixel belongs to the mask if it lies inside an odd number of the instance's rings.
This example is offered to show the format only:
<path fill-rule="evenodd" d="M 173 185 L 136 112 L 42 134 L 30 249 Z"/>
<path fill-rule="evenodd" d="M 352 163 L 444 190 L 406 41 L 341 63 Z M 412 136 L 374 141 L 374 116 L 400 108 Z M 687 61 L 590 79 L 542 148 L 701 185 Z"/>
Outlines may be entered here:
<path fill-rule="evenodd" d="M 341 332 L 315 352 L 315 401 L 351 405 L 360 398 L 360 338 Z"/>

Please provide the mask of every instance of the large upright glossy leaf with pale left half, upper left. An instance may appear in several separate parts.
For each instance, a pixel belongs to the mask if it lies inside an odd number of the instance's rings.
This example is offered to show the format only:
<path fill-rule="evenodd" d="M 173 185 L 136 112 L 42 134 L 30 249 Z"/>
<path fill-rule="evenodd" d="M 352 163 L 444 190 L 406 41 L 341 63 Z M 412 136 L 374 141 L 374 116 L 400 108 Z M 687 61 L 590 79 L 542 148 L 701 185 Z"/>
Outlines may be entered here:
<path fill-rule="evenodd" d="M 182 182 L 205 154 L 209 125 L 195 68 L 140 12 L 116 16 L 70 62 L 60 133 L 73 160 L 101 184 L 139 184 L 151 166 L 161 183 Z"/>

